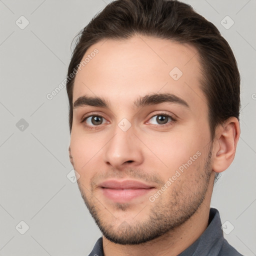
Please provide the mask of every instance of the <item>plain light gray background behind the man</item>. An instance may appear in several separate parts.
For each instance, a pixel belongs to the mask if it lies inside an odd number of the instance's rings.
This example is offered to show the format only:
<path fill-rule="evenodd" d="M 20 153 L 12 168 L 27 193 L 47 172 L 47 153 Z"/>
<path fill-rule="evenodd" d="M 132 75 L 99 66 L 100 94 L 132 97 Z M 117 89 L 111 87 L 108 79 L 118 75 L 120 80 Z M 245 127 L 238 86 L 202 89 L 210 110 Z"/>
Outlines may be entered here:
<path fill-rule="evenodd" d="M 46 94 L 65 78 L 75 34 L 108 2 L 0 0 L 2 256 L 87 255 L 101 235 L 77 183 L 66 176 L 72 165 L 65 87 L 51 100 Z M 211 206 L 220 211 L 222 223 L 234 226 L 225 238 L 242 254 L 256 255 L 256 2 L 184 2 L 218 27 L 238 62 L 241 136 L 233 163 L 214 187 Z M 23 29 L 15 23 L 25 24 L 21 15 L 29 21 Z M 234 21 L 229 29 L 221 24 L 226 15 Z M 29 226 L 24 234 L 21 220 Z"/>

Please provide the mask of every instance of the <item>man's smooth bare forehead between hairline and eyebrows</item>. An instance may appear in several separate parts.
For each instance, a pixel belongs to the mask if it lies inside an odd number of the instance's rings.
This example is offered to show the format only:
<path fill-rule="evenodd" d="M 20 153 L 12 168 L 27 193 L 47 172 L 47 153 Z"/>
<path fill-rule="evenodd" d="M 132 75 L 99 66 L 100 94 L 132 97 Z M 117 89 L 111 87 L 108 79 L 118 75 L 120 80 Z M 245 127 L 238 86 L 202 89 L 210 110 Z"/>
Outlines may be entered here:
<path fill-rule="evenodd" d="M 168 92 L 206 106 L 198 52 L 190 44 L 134 35 L 99 41 L 87 49 L 81 63 L 85 58 L 74 80 L 73 102 L 87 95 L 104 97 L 112 106 L 129 106 L 137 95 Z"/>

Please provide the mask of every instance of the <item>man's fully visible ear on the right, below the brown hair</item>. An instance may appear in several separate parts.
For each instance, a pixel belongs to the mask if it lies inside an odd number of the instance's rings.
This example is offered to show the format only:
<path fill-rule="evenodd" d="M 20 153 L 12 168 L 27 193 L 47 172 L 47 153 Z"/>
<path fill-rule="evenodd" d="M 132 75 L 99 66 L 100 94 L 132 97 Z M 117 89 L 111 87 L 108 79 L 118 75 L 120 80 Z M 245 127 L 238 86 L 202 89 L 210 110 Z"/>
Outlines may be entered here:
<path fill-rule="evenodd" d="M 224 124 L 217 126 L 212 150 L 212 169 L 215 172 L 224 171 L 233 161 L 239 135 L 236 117 L 230 117 Z"/>

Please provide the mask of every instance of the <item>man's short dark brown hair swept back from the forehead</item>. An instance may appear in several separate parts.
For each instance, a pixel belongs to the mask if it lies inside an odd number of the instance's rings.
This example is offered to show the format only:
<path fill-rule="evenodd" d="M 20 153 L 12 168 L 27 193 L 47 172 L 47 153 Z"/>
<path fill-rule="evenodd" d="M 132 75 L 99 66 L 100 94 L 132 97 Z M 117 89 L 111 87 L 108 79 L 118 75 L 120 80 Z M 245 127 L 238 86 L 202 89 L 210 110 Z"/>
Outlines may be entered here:
<path fill-rule="evenodd" d="M 217 124 L 239 120 L 240 75 L 233 52 L 218 29 L 193 8 L 177 0 L 116 0 L 97 13 L 79 33 L 68 67 L 77 69 L 86 50 L 102 39 L 127 39 L 134 34 L 190 43 L 198 51 L 207 99 L 211 139 Z M 72 128 L 74 78 L 68 79 L 69 128 Z"/>

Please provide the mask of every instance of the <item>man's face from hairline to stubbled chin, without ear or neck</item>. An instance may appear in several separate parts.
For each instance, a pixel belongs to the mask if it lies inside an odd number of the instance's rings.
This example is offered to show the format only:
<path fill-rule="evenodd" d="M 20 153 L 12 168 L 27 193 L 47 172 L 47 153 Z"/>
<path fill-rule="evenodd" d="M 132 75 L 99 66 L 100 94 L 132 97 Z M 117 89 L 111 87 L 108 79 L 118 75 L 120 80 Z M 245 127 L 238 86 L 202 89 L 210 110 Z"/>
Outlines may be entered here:
<path fill-rule="evenodd" d="M 197 51 L 133 36 L 100 41 L 83 59 L 88 54 L 73 87 L 70 153 L 78 187 L 107 239 L 139 244 L 181 225 L 209 187 L 212 143 Z M 147 188 L 102 184 L 109 180 Z"/>

